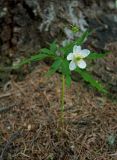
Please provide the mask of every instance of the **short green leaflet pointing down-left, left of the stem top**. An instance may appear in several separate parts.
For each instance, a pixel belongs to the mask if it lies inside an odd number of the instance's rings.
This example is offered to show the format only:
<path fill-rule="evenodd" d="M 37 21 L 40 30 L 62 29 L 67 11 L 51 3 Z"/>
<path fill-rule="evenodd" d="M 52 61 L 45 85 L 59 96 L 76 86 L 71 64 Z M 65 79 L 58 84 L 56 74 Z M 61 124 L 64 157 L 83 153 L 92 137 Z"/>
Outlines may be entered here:
<path fill-rule="evenodd" d="M 62 59 L 57 58 L 55 62 L 51 65 L 49 71 L 46 73 L 46 76 L 48 77 L 52 76 L 59 69 L 61 64 L 62 64 Z"/>

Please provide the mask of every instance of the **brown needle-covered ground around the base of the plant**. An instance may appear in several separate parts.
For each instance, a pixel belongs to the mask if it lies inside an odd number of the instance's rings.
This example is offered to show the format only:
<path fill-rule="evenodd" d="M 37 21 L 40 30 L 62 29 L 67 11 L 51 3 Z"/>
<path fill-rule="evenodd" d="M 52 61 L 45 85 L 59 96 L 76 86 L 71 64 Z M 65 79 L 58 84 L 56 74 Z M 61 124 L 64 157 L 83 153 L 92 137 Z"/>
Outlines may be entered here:
<path fill-rule="evenodd" d="M 60 131 L 60 75 L 44 63 L 0 93 L 1 160 L 116 160 L 117 104 L 81 80 L 66 88 Z"/>

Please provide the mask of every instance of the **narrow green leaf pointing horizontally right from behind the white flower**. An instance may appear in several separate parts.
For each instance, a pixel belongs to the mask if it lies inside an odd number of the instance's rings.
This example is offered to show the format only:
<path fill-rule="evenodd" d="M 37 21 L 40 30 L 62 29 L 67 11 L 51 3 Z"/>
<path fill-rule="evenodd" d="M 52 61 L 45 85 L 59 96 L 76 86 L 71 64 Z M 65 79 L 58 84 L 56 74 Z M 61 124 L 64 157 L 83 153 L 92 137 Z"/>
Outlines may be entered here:
<path fill-rule="evenodd" d="M 96 53 L 96 52 L 91 52 L 87 59 L 98 59 L 98 58 L 104 58 L 106 55 L 108 55 L 110 51 L 106 51 L 105 53 Z"/>

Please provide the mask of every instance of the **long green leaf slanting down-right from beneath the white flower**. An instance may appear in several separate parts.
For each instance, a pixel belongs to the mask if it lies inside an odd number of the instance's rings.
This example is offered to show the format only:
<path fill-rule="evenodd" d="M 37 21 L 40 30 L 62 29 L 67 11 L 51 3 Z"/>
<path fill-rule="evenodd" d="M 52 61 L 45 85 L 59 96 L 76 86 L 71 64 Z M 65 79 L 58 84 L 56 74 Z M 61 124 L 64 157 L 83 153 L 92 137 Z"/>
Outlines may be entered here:
<path fill-rule="evenodd" d="M 81 70 L 79 68 L 77 68 L 75 71 L 78 72 L 85 81 L 89 82 L 92 87 L 95 87 L 98 91 L 102 93 L 108 93 L 108 91 L 98 81 L 96 81 L 92 77 L 92 75 L 90 75 L 87 71 Z"/>

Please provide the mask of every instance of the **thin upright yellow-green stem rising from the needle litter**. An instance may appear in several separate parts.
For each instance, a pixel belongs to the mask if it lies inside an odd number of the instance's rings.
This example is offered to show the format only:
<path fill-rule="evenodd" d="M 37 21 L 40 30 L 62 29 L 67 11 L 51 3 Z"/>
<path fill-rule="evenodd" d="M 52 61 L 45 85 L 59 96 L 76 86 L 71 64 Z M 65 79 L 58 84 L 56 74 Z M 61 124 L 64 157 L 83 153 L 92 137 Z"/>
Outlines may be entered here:
<path fill-rule="evenodd" d="M 65 95 L 65 76 L 62 75 L 62 90 L 61 90 L 61 125 L 64 124 L 64 95 Z"/>

